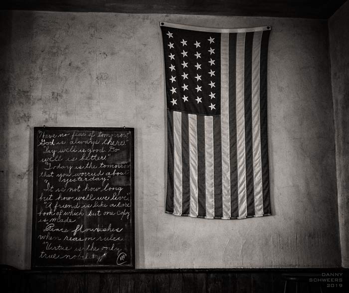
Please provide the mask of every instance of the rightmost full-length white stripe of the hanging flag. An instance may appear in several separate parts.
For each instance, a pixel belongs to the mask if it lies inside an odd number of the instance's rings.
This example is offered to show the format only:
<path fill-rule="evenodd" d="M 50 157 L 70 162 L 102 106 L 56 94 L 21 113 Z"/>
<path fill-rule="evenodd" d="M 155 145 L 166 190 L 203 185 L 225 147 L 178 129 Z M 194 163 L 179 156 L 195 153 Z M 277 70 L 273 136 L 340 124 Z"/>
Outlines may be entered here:
<path fill-rule="evenodd" d="M 259 109 L 259 74 L 262 33 L 262 31 L 254 33 L 252 51 L 252 136 L 255 215 L 263 215 L 262 158 Z"/>

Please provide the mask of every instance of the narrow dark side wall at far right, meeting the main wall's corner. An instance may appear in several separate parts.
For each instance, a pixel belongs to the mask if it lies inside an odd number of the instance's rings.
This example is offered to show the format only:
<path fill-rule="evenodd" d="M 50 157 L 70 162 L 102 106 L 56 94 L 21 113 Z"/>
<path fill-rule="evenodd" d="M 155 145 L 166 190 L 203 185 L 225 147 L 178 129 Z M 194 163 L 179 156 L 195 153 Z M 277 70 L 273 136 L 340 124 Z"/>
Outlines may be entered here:
<path fill-rule="evenodd" d="M 349 1 L 330 19 L 332 92 L 342 266 L 349 267 Z"/>

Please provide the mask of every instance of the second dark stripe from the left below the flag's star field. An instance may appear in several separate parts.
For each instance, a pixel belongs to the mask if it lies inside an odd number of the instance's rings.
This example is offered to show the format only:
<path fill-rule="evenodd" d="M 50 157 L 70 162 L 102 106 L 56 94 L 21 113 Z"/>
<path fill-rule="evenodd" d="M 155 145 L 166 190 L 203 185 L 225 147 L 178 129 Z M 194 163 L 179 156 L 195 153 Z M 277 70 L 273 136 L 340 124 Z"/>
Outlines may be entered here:
<path fill-rule="evenodd" d="M 190 212 L 190 165 L 188 114 L 182 112 L 182 215 Z"/>

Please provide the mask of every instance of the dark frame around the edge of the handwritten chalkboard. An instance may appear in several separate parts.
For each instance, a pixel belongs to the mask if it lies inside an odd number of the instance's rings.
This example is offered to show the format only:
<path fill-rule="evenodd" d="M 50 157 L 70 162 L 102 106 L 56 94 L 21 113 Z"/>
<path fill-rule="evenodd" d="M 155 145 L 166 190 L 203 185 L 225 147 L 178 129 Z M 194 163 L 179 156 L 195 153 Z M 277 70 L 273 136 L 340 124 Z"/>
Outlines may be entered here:
<path fill-rule="evenodd" d="M 38 131 L 103 131 L 103 132 L 130 132 L 130 200 L 131 200 L 131 215 L 129 222 L 130 223 L 130 234 L 131 234 L 131 243 L 129 244 L 129 255 L 130 263 L 127 265 L 38 265 L 35 259 L 35 243 L 36 243 L 36 207 L 37 207 L 37 180 L 39 170 L 37 168 L 37 162 L 39 159 L 38 156 Z M 135 269 L 135 173 L 134 173 L 134 128 L 109 128 L 109 127 L 34 127 L 34 142 L 33 142 L 33 205 L 32 205 L 32 239 L 31 239 L 31 269 L 42 269 L 42 270 L 81 270 L 81 269 Z"/>

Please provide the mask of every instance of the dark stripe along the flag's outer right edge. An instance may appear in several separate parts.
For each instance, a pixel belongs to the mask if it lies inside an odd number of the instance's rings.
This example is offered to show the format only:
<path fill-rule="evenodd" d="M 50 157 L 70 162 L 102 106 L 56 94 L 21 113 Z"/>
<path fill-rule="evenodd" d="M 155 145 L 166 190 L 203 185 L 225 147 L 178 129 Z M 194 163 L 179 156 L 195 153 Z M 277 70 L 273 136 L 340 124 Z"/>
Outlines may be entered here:
<path fill-rule="evenodd" d="M 263 184 L 263 213 L 271 214 L 269 192 L 268 124 L 267 124 L 267 58 L 270 30 L 263 31 L 260 62 L 260 117 Z"/>

